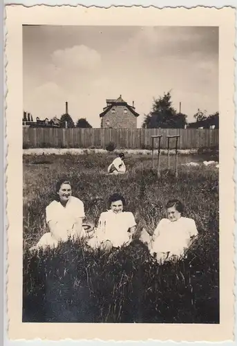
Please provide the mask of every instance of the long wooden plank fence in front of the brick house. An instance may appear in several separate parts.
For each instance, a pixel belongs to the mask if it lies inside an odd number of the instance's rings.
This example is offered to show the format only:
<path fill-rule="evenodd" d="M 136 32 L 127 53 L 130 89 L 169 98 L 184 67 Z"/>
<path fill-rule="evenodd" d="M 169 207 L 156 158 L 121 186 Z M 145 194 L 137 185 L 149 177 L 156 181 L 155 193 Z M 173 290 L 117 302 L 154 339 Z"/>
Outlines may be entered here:
<path fill-rule="evenodd" d="M 218 129 L 59 129 L 23 127 L 23 148 L 106 148 L 108 143 L 122 149 L 151 149 L 151 136 L 162 134 L 161 147 L 167 136 L 180 135 L 180 149 L 198 149 L 219 145 Z M 155 141 L 156 142 L 156 141 Z M 171 141 L 171 146 L 175 143 Z"/>

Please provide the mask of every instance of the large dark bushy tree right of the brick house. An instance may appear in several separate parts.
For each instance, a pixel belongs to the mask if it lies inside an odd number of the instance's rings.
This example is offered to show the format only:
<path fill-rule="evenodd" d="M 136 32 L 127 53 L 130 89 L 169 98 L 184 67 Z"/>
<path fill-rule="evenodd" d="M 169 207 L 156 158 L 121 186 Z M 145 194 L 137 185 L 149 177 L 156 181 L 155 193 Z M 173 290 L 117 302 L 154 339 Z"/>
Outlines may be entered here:
<path fill-rule="evenodd" d="M 171 93 L 164 93 L 163 97 L 153 100 L 152 110 L 144 118 L 143 128 L 184 128 L 187 116 L 178 113 L 172 106 Z"/>

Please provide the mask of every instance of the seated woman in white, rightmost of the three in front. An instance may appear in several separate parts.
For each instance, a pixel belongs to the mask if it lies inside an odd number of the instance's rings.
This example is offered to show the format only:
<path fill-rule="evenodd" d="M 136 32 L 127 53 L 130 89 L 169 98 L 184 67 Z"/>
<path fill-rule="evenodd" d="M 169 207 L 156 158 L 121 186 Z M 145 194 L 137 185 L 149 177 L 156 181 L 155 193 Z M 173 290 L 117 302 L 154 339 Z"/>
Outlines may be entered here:
<path fill-rule="evenodd" d="M 169 201 L 166 210 L 167 219 L 160 220 L 152 237 L 146 230 L 142 230 L 140 236 L 150 253 L 156 253 L 158 262 L 181 258 L 198 235 L 195 221 L 182 217 L 183 206 L 178 199 Z"/>

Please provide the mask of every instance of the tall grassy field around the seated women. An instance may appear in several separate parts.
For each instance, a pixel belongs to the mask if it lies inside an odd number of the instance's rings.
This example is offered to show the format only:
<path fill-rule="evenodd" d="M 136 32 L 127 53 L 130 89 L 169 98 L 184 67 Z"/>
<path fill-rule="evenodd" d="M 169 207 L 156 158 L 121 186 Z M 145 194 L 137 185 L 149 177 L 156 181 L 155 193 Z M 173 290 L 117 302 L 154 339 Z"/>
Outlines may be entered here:
<path fill-rule="evenodd" d="M 167 156 L 161 156 L 158 180 L 151 155 L 128 155 L 129 172 L 108 176 L 114 156 L 23 156 L 23 321 L 218 323 L 218 169 L 180 165 L 176 179 L 167 172 Z M 185 155 L 179 161 L 208 159 Z M 153 262 L 138 239 L 110 254 L 70 242 L 30 254 L 28 248 L 46 231 L 45 208 L 61 177 L 72 181 L 88 221 L 96 223 L 108 196 L 120 192 L 139 235 L 142 227 L 153 230 L 164 217 L 167 200 L 178 198 L 200 235 L 184 261 L 163 265 Z"/>

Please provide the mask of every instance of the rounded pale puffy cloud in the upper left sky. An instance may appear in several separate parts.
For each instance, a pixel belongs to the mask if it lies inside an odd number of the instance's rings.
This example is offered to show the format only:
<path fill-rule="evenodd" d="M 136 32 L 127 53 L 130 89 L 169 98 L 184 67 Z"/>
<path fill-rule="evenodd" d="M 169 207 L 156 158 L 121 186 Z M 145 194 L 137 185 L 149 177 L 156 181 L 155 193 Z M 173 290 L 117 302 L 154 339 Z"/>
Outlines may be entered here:
<path fill-rule="evenodd" d="M 87 46 L 73 46 L 64 50 L 54 51 L 51 62 L 55 69 L 70 69 L 71 71 L 93 71 L 101 64 L 101 57 L 97 51 Z"/>

